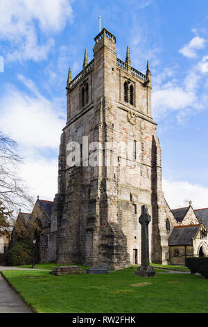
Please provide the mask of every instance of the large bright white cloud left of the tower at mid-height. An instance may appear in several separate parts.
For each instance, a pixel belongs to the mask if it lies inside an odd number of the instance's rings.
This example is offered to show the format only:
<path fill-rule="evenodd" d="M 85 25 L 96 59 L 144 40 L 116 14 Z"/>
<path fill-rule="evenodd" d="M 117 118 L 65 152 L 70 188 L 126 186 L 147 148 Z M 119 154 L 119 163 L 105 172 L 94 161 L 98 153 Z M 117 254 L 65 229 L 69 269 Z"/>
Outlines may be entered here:
<path fill-rule="evenodd" d="M 33 88 L 33 81 L 21 75 L 28 88 Z M 6 88 L 1 98 L 0 129 L 17 141 L 21 146 L 51 147 L 60 143 L 60 134 L 65 120 L 57 102 L 51 102 L 38 92 L 27 95 L 12 85 Z"/>

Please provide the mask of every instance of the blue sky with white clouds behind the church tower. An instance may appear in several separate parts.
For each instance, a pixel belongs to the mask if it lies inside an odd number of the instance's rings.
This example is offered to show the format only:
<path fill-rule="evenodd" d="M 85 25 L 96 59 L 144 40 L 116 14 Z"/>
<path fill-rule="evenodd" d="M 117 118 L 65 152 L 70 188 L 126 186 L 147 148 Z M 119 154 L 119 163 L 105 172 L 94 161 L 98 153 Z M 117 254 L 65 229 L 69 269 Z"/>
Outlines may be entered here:
<path fill-rule="evenodd" d="M 80 72 L 85 47 L 92 60 L 98 15 L 121 60 L 129 45 L 132 67 L 150 61 L 169 205 L 208 207 L 207 0 L 0 0 L 0 129 L 18 142 L 22 177 L 53 200 L 67 74 Z"/>

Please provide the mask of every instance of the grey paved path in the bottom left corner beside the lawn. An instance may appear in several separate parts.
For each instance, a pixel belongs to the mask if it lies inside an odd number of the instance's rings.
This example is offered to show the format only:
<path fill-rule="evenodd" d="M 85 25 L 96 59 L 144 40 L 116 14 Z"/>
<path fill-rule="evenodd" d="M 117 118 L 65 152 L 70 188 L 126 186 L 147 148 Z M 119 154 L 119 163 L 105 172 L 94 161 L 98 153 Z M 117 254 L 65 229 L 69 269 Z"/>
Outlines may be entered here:
<path fill-rule="evenodd" d="M 0 273 L 0 313 L 33 313 Z"/>

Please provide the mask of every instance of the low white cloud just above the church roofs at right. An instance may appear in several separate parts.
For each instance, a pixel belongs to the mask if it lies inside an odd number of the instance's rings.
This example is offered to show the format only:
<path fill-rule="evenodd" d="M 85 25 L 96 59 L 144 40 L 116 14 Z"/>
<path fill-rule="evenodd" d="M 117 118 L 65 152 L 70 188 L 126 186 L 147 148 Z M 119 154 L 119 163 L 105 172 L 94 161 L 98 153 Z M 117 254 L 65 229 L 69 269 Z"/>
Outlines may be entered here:
<path fill-rule="evenodd" d="M 164 196 L 171 209 L 187 207 L 189 200 L 194 209 L 208 207 L 208 188 L 189 182 L 163 180 Z"/>

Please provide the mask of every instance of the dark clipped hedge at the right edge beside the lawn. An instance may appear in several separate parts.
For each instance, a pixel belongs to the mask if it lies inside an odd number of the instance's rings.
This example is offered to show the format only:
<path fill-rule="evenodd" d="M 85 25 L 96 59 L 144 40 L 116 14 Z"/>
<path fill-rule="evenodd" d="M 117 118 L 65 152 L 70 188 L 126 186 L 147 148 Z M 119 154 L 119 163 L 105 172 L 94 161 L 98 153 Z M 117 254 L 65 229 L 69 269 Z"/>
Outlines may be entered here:
<path fill-rule="evenodd" d="M 191 273 L 200 273 L 208 278 L 208 257 L 187 257 L 186 266 Z"/>

